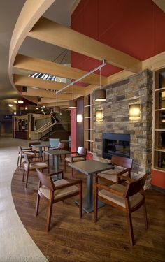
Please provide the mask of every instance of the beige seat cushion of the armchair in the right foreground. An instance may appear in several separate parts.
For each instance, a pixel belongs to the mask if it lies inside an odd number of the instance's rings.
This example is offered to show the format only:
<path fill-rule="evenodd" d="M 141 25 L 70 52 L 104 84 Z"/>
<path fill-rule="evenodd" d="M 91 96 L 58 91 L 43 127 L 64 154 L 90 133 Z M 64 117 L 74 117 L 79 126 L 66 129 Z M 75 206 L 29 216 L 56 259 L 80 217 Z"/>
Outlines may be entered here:
<path fill-rule="evenodd" d="M 122 184 L 113 184 L 109 187 L 110 189 L 114 189 L 116 191 L 120 191 L 122 193 L 124 193 L 126 187 L 124 187 Z M 117 205 L 122 206 L 123 208 L 125 208 L 125 198 L 122 196 L 117 196 L 105 189 L 102 189 L 101 191 L 99 191 L 99 196 L 101 196 L 102 198 L 106 198 L 108 201 L 111 201 L 113 203 L 116 203 Z M 136 193 L 134 194 L 134 196 L 130 196 L 129 198 L 129 202 L 130 202 L 130 207 L 134 208 L 136 205 L 138 205 L 138 203 L 140 203 L 143 200 L 143 195 L 141 195 L 140 193 Z"/>

